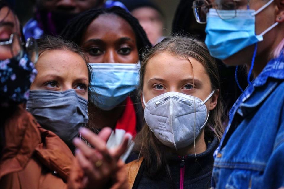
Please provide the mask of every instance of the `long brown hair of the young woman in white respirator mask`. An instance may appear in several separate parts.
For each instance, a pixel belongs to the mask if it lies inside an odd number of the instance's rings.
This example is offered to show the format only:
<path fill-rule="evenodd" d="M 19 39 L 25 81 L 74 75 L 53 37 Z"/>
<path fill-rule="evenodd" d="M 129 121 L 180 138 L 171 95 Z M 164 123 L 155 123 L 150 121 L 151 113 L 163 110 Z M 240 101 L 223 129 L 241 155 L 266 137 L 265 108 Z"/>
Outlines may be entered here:
<path fill-rule="evenodd" d="M 195 58 L 205 68 L 208 74 L 212 90 L 219 91 L 216 107 L 210 111 L 208 121 L 205 126 L 204 137 L 212 139 L 217 137 L 221 139 L 224 129 L 222 126 L 223 106 L 220 100 L 220 81 L 217 64 L 209 54 L 204 43 L 189 37 L 172 36 L 167 37 L 153 48 L 148 49 L 148 52 L 143 54 L 143 61 L 140 69 L 139 94 L 141 96 L 143 90 L 143 80 L 146 72 L 147 63 L 155 55 L 167 52 L 175 56 L 185 58 Z M 190 61 L 189 61 L 190 63 Z M 134 150 L 139 153 L 139 156 L 144 158 L 145 170 L 149 175 L 155 175 L 157 172 L 164 170 L 169 173 L 167 164 L 167 156 L 170 154 L 168 147 L 155 137 L 154 133 L 149 129 L 145 120 L 143 120 L 143 128 L 135 138 Z"/>

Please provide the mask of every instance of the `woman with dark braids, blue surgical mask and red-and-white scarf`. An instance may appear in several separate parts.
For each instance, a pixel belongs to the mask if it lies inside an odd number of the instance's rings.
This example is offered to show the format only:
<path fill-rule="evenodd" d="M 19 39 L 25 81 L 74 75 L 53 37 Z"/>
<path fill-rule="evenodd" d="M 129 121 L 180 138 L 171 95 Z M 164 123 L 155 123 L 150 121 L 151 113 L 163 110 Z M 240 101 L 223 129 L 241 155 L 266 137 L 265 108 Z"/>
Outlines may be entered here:
<path fill-rule="evenodd" d="M 92 9 L 72 20 L 62 36 L 82 47 L 90 60 L 94 92 L 88 127 L 99 131 L 111 127 L 108 147 L 120 144 L 125 133 L 134 139 L 143 118 L 136 92 L 139 54 L 151 46 L 138 20 L 120 7 Z"/>

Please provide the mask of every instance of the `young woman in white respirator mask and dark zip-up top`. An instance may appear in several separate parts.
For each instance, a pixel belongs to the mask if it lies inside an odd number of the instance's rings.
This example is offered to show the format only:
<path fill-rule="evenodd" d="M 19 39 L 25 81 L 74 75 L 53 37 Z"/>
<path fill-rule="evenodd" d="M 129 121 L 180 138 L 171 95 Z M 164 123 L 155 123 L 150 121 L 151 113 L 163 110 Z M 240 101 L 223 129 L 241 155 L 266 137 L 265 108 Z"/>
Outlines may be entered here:
<path fill-rule="evenodd" d="M 127 164 L 131 188 L 210 188 L 213 152 L 222 137 L 218 68 L 204 43 L 167 37 L 140 69 L 144 124 L 138 161 Z"/>

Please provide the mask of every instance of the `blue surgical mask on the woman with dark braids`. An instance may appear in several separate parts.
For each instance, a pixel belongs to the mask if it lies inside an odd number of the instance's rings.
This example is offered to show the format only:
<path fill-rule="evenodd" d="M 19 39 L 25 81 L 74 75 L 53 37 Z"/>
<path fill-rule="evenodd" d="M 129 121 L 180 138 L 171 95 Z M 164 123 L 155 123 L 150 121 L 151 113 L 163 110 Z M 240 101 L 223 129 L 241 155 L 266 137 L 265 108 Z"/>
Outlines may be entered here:
<path fill-rule="evenodd" d="M 93 72 L 91 101 L 102 110 L 112 110 L 138 86 L 140 64 L 90 63 Z"/>

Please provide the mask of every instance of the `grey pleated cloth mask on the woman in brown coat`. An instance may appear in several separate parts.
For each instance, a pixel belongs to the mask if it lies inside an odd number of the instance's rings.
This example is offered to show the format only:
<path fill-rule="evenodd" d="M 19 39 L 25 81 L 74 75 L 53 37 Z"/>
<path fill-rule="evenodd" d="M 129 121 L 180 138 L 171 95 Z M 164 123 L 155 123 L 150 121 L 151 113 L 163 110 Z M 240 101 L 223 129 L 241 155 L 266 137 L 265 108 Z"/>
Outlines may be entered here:
<path fill-rule="evenodd" d="M 26 109 L 43 128 L 57 134 L 69 147 L 78 136 L 79 127 L 88 122 L 88 100 L 78 96 L 74 89 L 30 90 Z"/>

